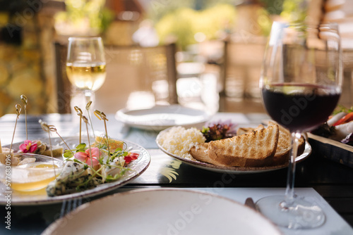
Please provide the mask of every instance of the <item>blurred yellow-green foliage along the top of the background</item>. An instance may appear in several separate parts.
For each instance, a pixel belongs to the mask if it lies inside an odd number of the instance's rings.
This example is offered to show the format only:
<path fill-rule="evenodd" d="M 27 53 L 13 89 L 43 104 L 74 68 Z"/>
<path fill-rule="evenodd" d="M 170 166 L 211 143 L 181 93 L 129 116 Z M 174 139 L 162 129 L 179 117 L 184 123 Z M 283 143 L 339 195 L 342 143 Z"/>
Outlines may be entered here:
<path fill-rule="evenodd" d="M 129 0 L 132 1 L 132 0 Z M 237 31 L 241 6 L 260 6 L 257 15 L 260 34 L 267 36 L 273 17 L 290 20 L 305 17 L 304 0 L 140 0 L 144 6 L 140 18 L 150 19 L 160 42 L 175 40 L 181 49 L 205 40 L 222 39 Z M 105 0 L 65 0 L 66 11 L 56 14 L 56 24 L 90 28 L 91 34 L 104 34 L 116 12 Z"/>

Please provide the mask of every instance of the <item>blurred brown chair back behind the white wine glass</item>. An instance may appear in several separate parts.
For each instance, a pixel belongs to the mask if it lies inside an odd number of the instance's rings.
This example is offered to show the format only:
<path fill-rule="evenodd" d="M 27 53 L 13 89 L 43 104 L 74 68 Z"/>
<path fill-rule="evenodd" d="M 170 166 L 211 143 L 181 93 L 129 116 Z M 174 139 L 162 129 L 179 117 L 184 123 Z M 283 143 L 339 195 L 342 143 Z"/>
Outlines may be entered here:
<path fill-rule="evenodd" d="M 107 77 L 95 91 L 95 109 L 115 113 L 120 108 L 148 108 L 177 103 L 176 46 L 105 45 Z M 55 43 L 58 112 L 70 113 L 72 86 L 66 77 L 66 45 Z"/>

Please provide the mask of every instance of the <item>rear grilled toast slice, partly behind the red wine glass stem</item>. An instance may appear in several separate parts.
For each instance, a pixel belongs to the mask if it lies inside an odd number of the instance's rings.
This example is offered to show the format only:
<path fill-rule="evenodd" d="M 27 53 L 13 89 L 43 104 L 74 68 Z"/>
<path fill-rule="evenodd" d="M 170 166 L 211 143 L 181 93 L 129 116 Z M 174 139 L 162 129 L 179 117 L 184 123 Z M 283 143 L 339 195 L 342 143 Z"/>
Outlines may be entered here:
<path fill-rule="evenodd" d="M 278 125 L 277 122 L 270 120 L 268 122 L 269 126 Z M 288 129 L 278 125 L 280 129 L 280 135 L 278 137 L 278 144 L 276 153 L 273 156 L 273 164 L 272 165 L 282 165 L 289 161 L 290 151 L 291 151 L 291 134 Z M 305 149 L 305 139 L 303 136 L 299 139 L 298 143 L 298 153 L 297 155 L 301 155 Z"/>

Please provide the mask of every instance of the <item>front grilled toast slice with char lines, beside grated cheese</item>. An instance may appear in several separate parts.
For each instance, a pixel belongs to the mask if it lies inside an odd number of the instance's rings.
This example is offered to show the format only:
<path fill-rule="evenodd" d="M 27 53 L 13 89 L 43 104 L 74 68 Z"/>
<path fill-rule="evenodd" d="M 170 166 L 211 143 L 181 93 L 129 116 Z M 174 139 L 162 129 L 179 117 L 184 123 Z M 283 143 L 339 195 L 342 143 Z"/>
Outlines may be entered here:
<path fill-rule="evenodd" d="M 258 167 L 269 165 L 277 148 L 278 125 L 219 141 L 210 141 L 208 157 L 217 165 Z M 216 164 L 215 164 L 216 165 Z"/>

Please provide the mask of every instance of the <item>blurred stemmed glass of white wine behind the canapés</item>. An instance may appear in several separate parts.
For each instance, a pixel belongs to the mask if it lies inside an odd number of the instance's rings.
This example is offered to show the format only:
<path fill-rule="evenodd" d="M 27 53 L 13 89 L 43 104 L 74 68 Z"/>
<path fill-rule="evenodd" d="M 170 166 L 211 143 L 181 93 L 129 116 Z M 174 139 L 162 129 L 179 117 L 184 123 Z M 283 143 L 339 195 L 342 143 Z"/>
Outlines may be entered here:
<path fill-rule="evenodd" d="M 95 103 L 95 91 L 102 87 L 106 77 L 104 46 L 101 37 L 69 37 L 66 60 L 66 74 L 80 94 L 85 96 L 85 103 Z M 72 100 L 71 100 L 72 102 Z M 73 104 L 71 103 L 71 106 Z"/>

